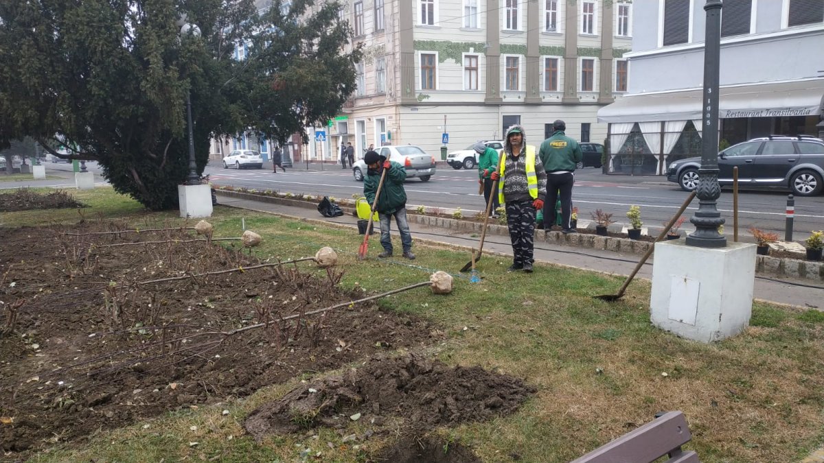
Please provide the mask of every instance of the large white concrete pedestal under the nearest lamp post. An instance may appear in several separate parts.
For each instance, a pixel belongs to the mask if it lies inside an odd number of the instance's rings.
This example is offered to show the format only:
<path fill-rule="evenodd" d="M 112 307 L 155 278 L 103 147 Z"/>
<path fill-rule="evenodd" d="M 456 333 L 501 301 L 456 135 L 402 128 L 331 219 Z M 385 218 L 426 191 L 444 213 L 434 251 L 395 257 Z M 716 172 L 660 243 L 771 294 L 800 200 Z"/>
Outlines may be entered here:
<path fill-rule="evenodd" d="M 756 246 L 724 248 L 660 241 L 653 258 L 650 320 L 662 330 L 704 343 L 741 333 L 750 323 Z"/>

